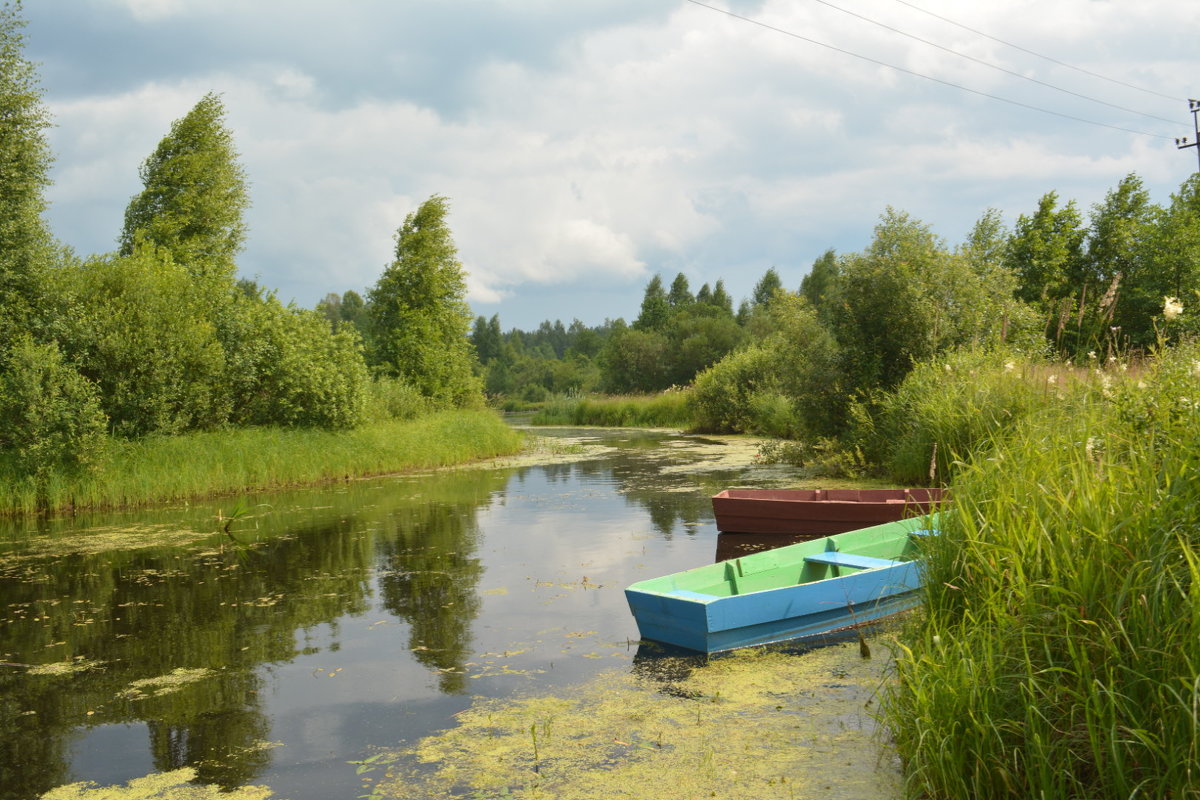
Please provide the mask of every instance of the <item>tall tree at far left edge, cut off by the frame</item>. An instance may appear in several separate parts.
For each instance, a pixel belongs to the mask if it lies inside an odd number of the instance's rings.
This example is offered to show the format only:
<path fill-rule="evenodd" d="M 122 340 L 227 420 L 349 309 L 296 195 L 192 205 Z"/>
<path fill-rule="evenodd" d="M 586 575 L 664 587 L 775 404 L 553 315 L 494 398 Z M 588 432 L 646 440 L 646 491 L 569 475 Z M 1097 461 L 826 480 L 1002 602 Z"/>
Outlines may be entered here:
<path fill-rule="evenodd" d="M 54 245 L 42 218 L 50 151 L 37 71 L 24 56 L 19 5 L 0 7 L 0 355 L 34 321 Z"/>

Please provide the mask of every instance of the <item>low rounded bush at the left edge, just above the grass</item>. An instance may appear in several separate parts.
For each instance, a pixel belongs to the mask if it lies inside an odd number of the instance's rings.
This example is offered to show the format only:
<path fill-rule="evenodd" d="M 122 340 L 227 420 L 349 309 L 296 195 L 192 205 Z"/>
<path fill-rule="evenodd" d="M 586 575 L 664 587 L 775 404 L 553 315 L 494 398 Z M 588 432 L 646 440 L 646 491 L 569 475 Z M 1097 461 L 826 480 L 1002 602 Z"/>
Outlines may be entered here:
<path fill-rule="evenodd" d="M 50 475 L 74 477 L 95 468 L 106 425 L 96 387 L 55 344 L 26 335 L 11 345 L 0 371 L 0 453 L 13 476 L 41 495 Z"/>

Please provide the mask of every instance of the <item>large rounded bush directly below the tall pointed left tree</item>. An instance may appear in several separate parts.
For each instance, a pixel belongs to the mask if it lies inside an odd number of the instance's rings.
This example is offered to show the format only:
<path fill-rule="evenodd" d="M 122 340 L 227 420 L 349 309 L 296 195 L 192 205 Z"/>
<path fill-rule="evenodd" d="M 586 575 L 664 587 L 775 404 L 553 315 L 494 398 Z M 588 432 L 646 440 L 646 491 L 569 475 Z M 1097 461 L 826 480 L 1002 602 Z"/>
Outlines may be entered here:
<path fill-rule="evenodd" d="M 66 267 L 55 295 L 64 353 L 98 387 L 114 433 L 226 421 L 226 359 L 210 299 L 169 253 L 145 246 Z"/>

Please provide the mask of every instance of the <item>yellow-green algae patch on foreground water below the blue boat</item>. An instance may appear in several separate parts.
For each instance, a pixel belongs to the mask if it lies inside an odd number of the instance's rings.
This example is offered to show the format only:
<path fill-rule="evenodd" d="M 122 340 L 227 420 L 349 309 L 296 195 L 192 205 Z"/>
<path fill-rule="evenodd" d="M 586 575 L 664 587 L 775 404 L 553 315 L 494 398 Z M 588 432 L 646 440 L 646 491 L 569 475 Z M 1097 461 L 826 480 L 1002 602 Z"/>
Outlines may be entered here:
<path fill-rule="evenodd" d="M 479 700 L 457 726 L 376 757 L 368 796 L 899 796 L 875 735 L 886 660 L 857 646 L 743 651 L 655 674 L 607 673 L 564 696 Z"/>

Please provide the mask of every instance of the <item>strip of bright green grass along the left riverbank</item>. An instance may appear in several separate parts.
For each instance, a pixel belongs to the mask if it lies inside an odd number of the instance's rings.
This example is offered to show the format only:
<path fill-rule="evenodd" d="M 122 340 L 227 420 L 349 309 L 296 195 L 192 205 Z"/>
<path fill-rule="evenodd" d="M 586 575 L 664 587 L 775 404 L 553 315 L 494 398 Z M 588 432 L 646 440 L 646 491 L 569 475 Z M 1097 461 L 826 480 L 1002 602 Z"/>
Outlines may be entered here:
<path fill-rule="evenodd" d="M 102 467 L 52 476 L 52 510 L 185 498 L 461 464 L 516 452 L 521 437 L 492 413 L 445 411 L 352 431 L 239 428 L 109 443 Z M 36 510 L 37 492 L 0 461 L 0 513 Z"/>

